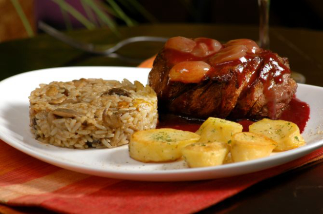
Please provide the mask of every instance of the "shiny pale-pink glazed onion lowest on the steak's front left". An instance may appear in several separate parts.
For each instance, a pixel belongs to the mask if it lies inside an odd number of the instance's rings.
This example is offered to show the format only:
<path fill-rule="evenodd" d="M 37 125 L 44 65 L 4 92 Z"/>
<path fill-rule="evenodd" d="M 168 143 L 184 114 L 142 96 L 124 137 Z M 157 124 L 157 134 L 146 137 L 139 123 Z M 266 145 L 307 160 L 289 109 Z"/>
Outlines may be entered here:
<path fill-rule="evenodd" d="M 210 68 L 211 66 L 204 61 L 179 62 L 170 70 L 169 78 L 171 81 L 198 83 Z"/>

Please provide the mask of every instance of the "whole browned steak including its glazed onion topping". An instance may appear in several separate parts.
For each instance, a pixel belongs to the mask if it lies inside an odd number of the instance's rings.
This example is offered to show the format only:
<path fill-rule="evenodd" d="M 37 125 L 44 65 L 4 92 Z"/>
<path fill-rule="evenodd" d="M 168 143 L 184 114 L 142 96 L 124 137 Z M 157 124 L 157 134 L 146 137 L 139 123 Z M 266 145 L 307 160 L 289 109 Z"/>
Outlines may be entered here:
<path fill-rule="evenodd" d="M 194 118 L 276 119 L 296 92 L 288 59 L 250 39 L 223 45 L 207 38 L 170 40 L 149 74 L 161 111 Z"/>

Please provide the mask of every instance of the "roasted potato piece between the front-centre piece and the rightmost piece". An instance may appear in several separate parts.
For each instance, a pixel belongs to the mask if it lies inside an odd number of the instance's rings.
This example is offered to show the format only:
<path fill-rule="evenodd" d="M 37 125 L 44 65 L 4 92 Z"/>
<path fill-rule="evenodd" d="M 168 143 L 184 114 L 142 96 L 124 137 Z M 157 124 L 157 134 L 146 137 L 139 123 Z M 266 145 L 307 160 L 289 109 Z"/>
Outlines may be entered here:
<path fill-rule="evenodd" d="M 231 156 L 234 162 L 269 156 L 277 147 L 274 140 L 251 132 L 236 133 L 232 137 Z"/>

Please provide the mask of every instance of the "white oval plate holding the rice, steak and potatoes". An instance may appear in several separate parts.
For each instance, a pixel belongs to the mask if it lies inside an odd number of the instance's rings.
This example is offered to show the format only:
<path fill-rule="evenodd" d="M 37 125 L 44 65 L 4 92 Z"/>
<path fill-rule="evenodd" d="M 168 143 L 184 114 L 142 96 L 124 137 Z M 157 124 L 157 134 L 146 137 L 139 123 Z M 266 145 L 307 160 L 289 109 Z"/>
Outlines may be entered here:
<path fill-rule="evenodd" d="M 78 78 L 104 78 L 147 82 L 149 69 L 129 67 L 66 67 L 23 73 L 0 82 L 0 138 L 16 149 L 65 169 L 112 178 L 147 181 L 184 181 L 241 175 L 274 167 L 323 146 L 323 88 L 300 84 L 297 97 L 310 105 L 302 136 L 306 146 L 257 160 L 216 167 L 187 168 L 184 161 L 141 163 L 131 159 L 128 146 L 76 150 L 38 142 L 30 133 L 28 96 L 40 83 Z"/>

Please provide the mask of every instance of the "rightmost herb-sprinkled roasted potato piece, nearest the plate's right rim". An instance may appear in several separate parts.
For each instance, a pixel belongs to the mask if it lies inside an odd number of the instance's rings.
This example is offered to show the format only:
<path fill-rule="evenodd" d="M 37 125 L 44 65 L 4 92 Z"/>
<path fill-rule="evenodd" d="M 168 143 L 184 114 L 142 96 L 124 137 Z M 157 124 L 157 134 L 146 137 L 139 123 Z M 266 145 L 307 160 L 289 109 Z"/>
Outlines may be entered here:
<path fill-rule="evenodd" d="M 249 132 L 258 133 L 276 141 L 274 151 L 286 151 L 305 145 L 299 127 L 285 120 L 262 119 L 249 126 Z"/>

